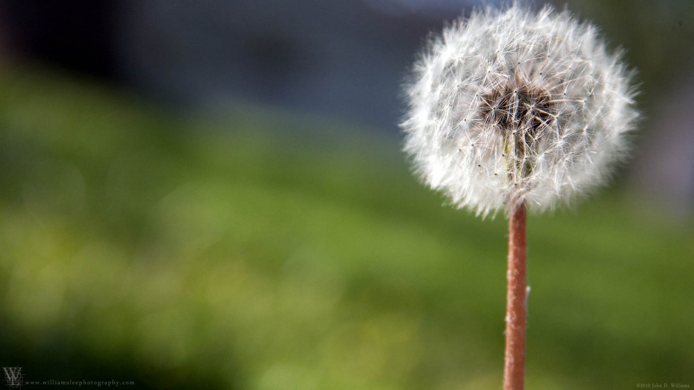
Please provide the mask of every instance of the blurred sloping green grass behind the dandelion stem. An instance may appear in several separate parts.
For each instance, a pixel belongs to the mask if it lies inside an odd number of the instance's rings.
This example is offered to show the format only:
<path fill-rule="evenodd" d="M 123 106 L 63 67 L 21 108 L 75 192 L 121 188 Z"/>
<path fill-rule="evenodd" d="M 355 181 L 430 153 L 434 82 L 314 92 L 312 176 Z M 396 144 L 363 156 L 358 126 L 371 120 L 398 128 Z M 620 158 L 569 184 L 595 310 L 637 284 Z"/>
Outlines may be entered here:
<path fill-rule="evenodd" d="M 149 388 L 498 389 L 506 224 L 398 145 L 0 73 L 0 363 Z M 331 127 L 325 131 L 325 127 Z M 529 222 L 527 387 L 694 386 L 694 227 L 618 191 Z"/>

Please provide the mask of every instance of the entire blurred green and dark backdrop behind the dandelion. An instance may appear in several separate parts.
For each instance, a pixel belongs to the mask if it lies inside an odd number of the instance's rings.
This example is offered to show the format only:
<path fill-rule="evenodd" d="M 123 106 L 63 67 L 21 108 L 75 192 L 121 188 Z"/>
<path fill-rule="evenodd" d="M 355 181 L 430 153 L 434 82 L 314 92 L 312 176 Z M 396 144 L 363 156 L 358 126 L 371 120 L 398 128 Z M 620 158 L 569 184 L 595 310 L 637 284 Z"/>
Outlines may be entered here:
<path fill-rule="evenodd" d="M 499 389 L 506 222 L 418 184 L 397 127 L 427 34 L 485 4 L 0 1 L 0 366 Z M 694 387 L 694 2 L 568 8 L 643 121 L 609 188 L 530 218 L 527 387 Z"/>

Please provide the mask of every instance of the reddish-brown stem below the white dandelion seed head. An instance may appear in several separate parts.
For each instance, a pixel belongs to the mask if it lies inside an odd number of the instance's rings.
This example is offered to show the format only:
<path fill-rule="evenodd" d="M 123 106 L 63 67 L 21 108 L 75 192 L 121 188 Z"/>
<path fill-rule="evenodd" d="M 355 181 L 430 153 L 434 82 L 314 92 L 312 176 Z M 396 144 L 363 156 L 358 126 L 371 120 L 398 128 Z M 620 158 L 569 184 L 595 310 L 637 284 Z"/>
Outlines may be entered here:
<path fill-rule="evenodd" d="M 509 218 L 504 390 L 523 390 L 525 376 L 525 203 Z"/>

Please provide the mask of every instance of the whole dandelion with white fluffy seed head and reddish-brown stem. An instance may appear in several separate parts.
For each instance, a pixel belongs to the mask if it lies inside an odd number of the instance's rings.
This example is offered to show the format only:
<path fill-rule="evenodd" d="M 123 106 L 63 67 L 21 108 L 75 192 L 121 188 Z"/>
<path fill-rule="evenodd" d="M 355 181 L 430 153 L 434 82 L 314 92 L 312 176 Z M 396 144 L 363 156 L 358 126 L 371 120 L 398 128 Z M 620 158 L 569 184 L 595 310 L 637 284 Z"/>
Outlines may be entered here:
<path fill-rule="evenodd" d="M 632 75 L 596 29 L 518 5 L 433 37 L 401 127 L 416 172 L 452 204 L 509 216 L 505 389 L 523 387 L 525 214 L 606 181 L 638 116 Z"/>

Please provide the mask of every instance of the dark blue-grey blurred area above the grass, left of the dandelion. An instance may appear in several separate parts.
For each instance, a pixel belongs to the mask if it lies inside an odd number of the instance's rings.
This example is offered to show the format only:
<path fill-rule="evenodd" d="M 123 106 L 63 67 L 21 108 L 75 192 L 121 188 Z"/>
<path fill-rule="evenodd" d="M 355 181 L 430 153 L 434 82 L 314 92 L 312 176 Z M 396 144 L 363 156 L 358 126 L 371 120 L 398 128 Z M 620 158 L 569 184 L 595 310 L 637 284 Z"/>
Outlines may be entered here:
<path fill-rule="evenodd" d="M 407 64 L 428 31 L 459 12 L 452 3 L 446 9 L 400 1 L 3 6 L 15 55 L 117 82 L 160 103 L 219 107 L 244 100 L 390 131 L 402 109 Z"/>

